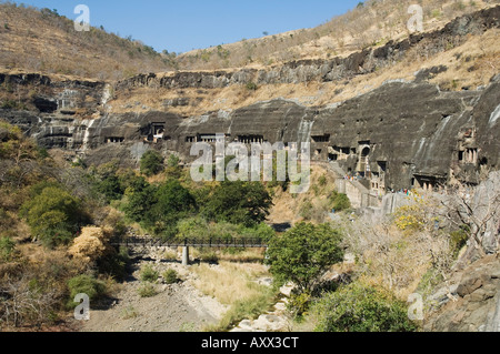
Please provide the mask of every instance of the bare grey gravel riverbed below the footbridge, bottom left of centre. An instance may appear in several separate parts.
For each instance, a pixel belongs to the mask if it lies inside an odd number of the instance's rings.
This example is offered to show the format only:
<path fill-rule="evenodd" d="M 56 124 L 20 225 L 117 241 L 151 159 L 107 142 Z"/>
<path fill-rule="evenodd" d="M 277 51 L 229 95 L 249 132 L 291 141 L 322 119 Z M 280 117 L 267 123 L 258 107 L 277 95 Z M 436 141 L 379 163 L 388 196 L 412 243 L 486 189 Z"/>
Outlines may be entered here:
<path fill-rule="evenodd" d="M 173 269 L 182 279 L 176 284 L 154 284 L 153 297 L 141 297 L 140 269 L 154 266 L 160 274 Z M 82 332 L 198 332 L 208 324 L 216 324 L 228 310 L 216 299 L 204 296 L 193 285 L 189 267 L 176 262 L 158 262 L 153 259 L 136 259 L 136 271 L 121 284 L 116 300 L 102 310 L 90 311 L 90 320 L 81 323 Z"/>

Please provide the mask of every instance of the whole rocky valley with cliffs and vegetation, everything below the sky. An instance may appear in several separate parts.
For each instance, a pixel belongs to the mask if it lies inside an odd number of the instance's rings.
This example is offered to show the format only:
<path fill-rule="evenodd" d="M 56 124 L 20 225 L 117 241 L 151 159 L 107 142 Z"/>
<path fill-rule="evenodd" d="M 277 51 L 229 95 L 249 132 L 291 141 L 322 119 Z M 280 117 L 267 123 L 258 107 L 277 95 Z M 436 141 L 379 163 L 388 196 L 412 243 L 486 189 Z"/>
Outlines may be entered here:
<path fill-rule="evenodd" d="M 409 33 L 408 3 L 177 58 L 1 4 L 0 330 L 81 293 L 68 330 L 500 330 L 500 4 L 421 0 Z M 302 143 L 300 181 L 196 182 L 221 140 Z"/>

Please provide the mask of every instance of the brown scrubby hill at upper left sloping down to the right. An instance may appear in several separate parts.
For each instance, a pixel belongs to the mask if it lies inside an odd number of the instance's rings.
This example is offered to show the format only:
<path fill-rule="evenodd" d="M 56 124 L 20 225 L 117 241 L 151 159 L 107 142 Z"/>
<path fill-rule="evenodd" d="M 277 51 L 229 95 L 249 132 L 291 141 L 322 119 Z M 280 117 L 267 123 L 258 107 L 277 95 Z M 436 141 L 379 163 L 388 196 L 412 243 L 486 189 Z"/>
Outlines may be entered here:
<path fill-rule="evenodd" d="M 0 3 L 0 68 L 119 80 L 143 71 L 171 70 L 170 59 L 140 41 L 102 28 L 74 31 L 54 10 Z"/>

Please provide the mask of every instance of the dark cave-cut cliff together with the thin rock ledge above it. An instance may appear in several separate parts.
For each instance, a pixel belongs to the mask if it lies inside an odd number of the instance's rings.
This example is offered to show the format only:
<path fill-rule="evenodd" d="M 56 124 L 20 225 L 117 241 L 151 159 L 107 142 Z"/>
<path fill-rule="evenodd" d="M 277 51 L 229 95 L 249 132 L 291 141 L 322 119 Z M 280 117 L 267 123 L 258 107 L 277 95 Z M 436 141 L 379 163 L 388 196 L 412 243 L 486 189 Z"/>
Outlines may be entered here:
<path fill-rule="evenodd" d="M 114 90 L 136 87 L 219 88 L 257 82 L 346 80 L 390 65 L 409 48 L 442 51 L 467 33 L 499 27 L 500 7 L 458 18 L 440 31 L 414 34 L 404 41 L 330 61 L 289 62 L 263 71 L 176 72 L 144 74 L 119 82 Z M 119 159 L 136 166 L 149 149 L 176 153 L 187 163 L 194 142 L 311 143 L 311 158 L 337 161 L 350 174 L 367 176 L 364 188 L 377 193 L 411 186 L 432 189 L 452 174 L 476 183 L 481 166 L 500 166 L 500 75 L 487 88 L 440 91 L 426 79 L 446 67 L 416 74 L 413 82 L 396 80 L 354 99 L 326 107 L 304 107 L 277 99 L 237 110 L 180 117 L 166 111 L 109 113 L 110 89 L 104 82 L 51 81 L 39 74 L 0 74 L 0 84 L 36 88 L 31 111 L 0 110 L 0 118 L 21 127 L 46 148 L 66 149 L 88 164 Z M 83 113 L 82 113 L 83 112 Z"/>

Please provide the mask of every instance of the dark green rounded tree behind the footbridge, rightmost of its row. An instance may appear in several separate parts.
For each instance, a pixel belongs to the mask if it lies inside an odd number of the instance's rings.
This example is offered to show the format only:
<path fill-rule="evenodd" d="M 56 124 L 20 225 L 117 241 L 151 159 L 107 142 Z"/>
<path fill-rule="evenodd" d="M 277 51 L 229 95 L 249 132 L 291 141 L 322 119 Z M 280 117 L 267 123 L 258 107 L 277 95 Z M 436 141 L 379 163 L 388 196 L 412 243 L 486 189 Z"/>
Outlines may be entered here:
<path fill-rule="evenodd" d="M 222 182 L 208 200 L 204 214 L 212 221 L 253 226 L 269 215 L 272 199 L 259 182 Z"/>

